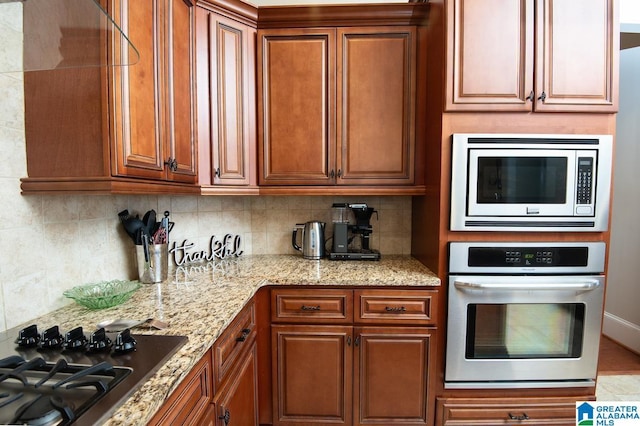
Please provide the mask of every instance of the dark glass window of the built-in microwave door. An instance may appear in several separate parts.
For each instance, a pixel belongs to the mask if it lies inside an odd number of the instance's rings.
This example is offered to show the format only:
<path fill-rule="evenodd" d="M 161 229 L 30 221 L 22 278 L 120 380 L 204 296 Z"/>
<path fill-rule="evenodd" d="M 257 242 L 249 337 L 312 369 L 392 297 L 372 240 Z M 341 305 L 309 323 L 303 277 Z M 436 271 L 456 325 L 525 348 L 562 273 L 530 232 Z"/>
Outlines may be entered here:
<path fill-rule="evenodd" d="M 479 204 L 565 204 L 566 157 L 479 157 Z"/>

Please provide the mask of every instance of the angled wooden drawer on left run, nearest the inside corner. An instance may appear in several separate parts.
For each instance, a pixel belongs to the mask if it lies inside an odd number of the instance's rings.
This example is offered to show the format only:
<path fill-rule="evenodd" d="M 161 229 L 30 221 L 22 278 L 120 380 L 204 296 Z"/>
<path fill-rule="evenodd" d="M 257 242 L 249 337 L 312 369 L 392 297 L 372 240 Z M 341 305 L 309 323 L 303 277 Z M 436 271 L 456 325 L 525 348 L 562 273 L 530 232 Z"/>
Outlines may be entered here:
<path fill-rule="evenodd" d="M 251 346 L 256 332 L 255 303 L 252 300 L 213 344 L 215 389 L 227 378 L 244 349 Z"/>

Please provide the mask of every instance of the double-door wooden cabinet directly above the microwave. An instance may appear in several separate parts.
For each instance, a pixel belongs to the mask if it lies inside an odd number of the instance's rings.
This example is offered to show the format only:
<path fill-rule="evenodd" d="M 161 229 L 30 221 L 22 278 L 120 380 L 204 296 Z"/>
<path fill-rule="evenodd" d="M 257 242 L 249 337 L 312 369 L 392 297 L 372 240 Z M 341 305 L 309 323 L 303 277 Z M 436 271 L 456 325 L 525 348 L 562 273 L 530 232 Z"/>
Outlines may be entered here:
<path fill-rule="evenodd" d="M 451 0 L 446 111 L 617 110 L 614 0 Z"/>

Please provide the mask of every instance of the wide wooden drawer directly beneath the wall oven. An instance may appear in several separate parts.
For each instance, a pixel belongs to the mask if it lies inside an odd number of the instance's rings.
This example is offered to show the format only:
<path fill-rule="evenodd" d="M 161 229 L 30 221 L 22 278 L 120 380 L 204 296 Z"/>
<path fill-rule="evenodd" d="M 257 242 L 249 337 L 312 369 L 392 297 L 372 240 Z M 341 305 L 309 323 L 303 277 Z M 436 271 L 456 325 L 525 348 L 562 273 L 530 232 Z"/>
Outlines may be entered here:
<path fill-rule="evenodd" d="M 593 397 L 587 397 L 593 399 Z M 580 398 L 438 399 L 438 426 L 574 425 Z"/>

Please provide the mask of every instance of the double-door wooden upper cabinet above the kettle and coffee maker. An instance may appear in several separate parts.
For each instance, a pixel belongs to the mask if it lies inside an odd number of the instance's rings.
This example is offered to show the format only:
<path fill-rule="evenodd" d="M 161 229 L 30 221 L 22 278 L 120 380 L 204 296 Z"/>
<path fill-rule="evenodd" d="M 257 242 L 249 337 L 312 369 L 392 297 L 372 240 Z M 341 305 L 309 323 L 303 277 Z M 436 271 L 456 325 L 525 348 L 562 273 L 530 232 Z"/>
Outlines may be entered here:
<path fill-rule="evenodd" d="M 416 30 L 258 31 L 261 185 L 411 185 Z"/>

